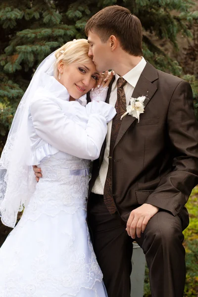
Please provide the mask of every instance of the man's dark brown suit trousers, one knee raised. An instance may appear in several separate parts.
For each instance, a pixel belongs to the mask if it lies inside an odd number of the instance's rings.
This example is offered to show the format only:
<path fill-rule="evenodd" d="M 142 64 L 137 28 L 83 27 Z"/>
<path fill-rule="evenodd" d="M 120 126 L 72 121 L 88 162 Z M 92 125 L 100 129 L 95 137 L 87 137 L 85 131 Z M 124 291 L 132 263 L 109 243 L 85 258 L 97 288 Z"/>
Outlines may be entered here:
<path fill-rule="evenodd" d="M 126 232 L 126 222 L 118 212 L 113 215 L 108 212 L 102 195 L 91 193 L 88 224 L 108 297 L 130 297 L 134 240 Z M 164 210 L 159 210 L 149 220 L 141 238 L 135 239 L 146 255 L 152 297 L 183 297 L 186 278 L 183 240 L 180 216 Z"/>

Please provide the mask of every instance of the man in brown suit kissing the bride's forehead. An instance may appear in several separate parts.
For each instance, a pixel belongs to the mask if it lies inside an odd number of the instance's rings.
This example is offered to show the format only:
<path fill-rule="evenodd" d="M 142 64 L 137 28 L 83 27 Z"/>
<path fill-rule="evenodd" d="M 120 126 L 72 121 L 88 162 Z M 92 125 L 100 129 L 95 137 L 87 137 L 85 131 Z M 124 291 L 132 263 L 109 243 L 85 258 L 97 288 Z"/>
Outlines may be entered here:
<path fill-rule="evenodd" d="M 185 208 L 198 184 L 198 123 L 190 85 L 142 57 L 140 20 L 109 6 L 86 25 L 98 71 L 113 69 L 106 101 L 117 115 L 108 124 L 88 199 L 88 223 L 108 297 L 130 297 L 132 243 L 144 250 L 152 297 L 183 297 Z M 131 97 L 144 112 L 122 114 Z M 137 103 L 138 102 L 138 103 Z M 138 109 L 139 108 L 139 109 Z M 133 284 L 132 284 L 133 285 Z"/>

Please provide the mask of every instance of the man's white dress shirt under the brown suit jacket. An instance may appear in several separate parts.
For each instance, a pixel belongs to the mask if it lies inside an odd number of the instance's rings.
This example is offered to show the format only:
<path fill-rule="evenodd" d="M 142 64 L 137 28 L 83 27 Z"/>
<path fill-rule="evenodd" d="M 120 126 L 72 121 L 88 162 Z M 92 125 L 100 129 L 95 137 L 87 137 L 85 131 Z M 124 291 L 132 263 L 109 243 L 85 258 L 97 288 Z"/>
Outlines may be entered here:
<path fill-rule="evenodd" d="M 123 78 L 127 81 L 127 84 L 124 86 L 124 92 L 126 96 L 126 104 L 129 105 L 130 99 L 133 95 L 133 91 L 137 85 L 137 82 L 145 68 L 147 62 L 142 57 L 142 60 L 136 65 L 133 69 L 127 72 Z M 117 101 L 117 80 L 119 75 L 115 74 L 115 80 L 112 84 L 111 94 L 109 98 L 109 104 L 115 106 Z M 110 121 L 107 125 L 107 135 L 106 135 L 106 147 L 104 151 L 104 158 L 99 170 L 99 176 L 96 179 L 92 192 L 95 194 L 103 195 L 104 194 L 104 184 L 106 180 L 107 170 L 108 170 L 108 156 L 109 156 L 109 148 L 110 148 L 110 138 L 111 138 L 111 127 L 112 121 Z"/>

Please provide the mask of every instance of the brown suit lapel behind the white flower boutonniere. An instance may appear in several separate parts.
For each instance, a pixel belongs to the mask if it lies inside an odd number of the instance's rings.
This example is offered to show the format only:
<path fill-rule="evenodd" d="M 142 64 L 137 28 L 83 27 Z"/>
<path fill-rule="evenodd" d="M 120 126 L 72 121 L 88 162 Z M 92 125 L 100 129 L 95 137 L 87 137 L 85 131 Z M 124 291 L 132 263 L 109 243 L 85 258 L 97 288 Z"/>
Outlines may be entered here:
<path fill-rule="evenodd" d="M 145 108 L 157 90 L 157 88 L 152 84 L 152 82 L 156 79 L 158 79 L 157 70 L 147 62 L 146 66 L 138 80 L 138 83 L 133 91 L 133 96 L 132 96 L 133 98 L 146 96 L 146 99 L 144 101 Z M 125 115 L 122 118 L 122 124 L 121 124 L 120 130 L 118 132 L 115 146 L 118 144 L 120 139 L 123 137 L 125 132 L 128 130 L 128 128 L 131 126 L 131 124 L 135 120 L 137 120 L 137 119 L 131 115 Z M 141 121 L 141 115 L 140 115 L 140 121 Z"/>

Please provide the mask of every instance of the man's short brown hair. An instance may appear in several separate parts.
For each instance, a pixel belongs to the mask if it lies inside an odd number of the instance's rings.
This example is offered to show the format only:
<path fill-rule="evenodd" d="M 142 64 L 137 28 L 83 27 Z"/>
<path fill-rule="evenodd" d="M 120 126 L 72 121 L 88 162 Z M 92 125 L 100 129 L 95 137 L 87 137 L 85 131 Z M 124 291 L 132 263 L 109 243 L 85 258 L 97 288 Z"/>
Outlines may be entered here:
<path fill-rule="evenodd" d="M 125 7 L 112 5 L 100 10 L 87 22 L 87 36 L 89 31 L 99 35 L 102 43 L 106 43 L 114 35 L 123 50 L 135 56 L 142 55 L 141 21 Z"/>

